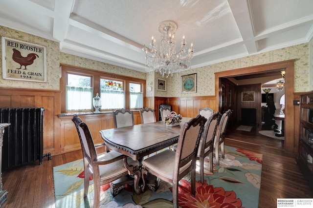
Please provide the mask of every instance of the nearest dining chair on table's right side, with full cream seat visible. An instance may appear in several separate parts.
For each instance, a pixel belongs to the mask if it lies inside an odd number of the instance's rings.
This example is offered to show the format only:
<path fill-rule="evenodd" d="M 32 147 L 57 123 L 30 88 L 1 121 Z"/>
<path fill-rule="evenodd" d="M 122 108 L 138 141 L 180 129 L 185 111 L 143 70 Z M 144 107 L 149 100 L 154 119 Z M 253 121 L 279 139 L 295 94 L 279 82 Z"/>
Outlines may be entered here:
<path fill-rule="evenodd" d="M 173 184 L 173 205 L 178 208 L 179 181 L 191 172 L 192 195 L 196 194 L 196 161 L 201 134 L 206 118 L 198 115 L 182 125 L 177 151 L 166 149 L 142 162 L 143 190 L 146 178 L 151 173 L 159 179 Z M 157 188 L 157 187 L 156 187 Z"/>

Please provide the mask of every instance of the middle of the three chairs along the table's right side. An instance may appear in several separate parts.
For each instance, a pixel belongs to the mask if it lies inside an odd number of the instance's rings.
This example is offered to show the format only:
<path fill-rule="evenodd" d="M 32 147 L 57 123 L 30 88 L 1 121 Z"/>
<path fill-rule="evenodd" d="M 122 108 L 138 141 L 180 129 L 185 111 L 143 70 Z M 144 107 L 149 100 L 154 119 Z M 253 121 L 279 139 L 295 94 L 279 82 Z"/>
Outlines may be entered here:
<path fill-rule="evenodd" d="M 217 128 L 220 123 L 221 113 L 217 111 L 208 118 L 204 125 L 204 130 L 201 136 L 198 149 L 197 159 L 200 162 L 200 178 L 201 183 L 204 182 L 204 158 L 209 156 L 210 171 L 213 173 L 213 146 Z"/>

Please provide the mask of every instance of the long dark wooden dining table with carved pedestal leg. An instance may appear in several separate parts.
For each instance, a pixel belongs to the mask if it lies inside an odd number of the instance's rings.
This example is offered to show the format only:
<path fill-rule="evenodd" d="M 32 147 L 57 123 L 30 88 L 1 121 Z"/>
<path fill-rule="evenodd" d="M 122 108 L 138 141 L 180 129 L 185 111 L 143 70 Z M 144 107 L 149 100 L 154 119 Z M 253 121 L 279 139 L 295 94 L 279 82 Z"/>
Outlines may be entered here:
<path fill-rule="evenodd" d="M 182 125 L 190 119 L 183 117 L 176 126 L 168 126 L 164 121 L 158 121 L 100 131 L 104 143 L 109 148 L 138 161 L 138 168 L 134 170 L 128 165 L 127 159 L 124 159 L 129 174 L 134 176 L 134 190 L 137 194 L 145 189 L 142 187 L 143 183 L 140 183 L 143 158 L 176 144 Z"/>

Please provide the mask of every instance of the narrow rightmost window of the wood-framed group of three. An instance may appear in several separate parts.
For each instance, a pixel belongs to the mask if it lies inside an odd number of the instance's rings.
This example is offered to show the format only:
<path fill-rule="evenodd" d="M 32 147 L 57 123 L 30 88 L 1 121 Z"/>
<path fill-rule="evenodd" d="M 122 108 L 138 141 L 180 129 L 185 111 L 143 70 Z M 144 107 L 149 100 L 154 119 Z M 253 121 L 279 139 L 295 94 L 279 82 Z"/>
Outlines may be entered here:
<path fill-rule="evenodd" d="M 143 108 L 143 93 L 141 84 L 129 83 L 130 108 Z"/>

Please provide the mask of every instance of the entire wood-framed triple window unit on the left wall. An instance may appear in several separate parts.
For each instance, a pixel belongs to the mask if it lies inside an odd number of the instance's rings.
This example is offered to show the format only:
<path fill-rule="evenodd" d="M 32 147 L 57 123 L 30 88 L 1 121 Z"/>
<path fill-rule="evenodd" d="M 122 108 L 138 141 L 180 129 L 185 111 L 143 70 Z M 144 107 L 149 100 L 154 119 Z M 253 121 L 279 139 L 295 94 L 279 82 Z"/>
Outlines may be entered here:
<path fill-rule="evenodd" d="M 101 111 L 139 109 L 145 105 L 144 79 L 67 64 L 60 66 L 62 113 L 93 111 L 92 98 L 97 93 L 101 98 Z"/>

